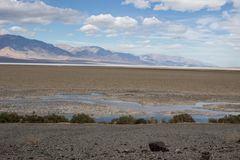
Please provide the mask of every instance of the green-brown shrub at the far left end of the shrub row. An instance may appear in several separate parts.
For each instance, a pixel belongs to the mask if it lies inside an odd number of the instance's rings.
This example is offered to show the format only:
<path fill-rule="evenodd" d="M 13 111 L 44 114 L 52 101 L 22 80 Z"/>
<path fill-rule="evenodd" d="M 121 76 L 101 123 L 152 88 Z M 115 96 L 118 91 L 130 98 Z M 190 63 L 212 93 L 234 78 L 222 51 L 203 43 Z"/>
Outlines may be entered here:
<path fill-rule="evenodd" d="M 0 123 L 17 123 L 22 120 L 22 116 L 19 116 L 17 113 L 0 113 Z"/>

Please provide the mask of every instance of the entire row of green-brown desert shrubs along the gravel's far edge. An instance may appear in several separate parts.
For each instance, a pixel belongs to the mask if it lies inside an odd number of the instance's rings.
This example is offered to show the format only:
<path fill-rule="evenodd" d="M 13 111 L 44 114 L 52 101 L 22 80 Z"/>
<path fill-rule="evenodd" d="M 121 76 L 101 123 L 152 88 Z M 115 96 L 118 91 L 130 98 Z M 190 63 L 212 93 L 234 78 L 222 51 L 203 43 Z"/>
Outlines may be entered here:
<path fill-rule="evenodd" d="M 17 113 L 0 113 L 0 123 L 95 123 L 95 119 L 87 114 L 76 114 L 69 121 L 64 116 L 51 114 L 46 116 L 39 116 L 33 112 L 31 115 L 21 116 Z M 162 123 L 167 123 L 165 120 Z M 169 123 L 184 123 L 184 122 L 195 122 L 191 115 L 189 114 L 179 114 L 173 116 Z M 99 122 L 103 124 L 108 124 L 107 122 Z M 133 116 L 121 116 L 119 118 L 112 119 L 111 124 L 156 124 L 158 121 L 155 118 L 135 119 Z M 228 115 L 223 118 L 215 119 L 209 118 L 208 123 L 240 123 L 240 115 Z"/>

